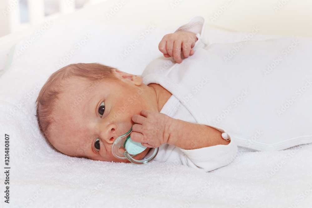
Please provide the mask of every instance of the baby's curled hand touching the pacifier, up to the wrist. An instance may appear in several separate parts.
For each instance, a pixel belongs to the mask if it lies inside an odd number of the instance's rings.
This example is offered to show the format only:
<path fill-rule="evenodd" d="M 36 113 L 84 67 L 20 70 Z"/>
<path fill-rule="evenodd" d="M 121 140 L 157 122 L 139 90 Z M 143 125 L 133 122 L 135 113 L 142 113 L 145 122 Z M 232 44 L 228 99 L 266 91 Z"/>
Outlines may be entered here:
<path fill-rule="evenodd" d="M 148 148 L 157 148 L 167 143 L 172 118 L 149 110 L 142 110 L 141 115 L 132 116 L 135 124 L 132 126 L 131 139 Z"/>

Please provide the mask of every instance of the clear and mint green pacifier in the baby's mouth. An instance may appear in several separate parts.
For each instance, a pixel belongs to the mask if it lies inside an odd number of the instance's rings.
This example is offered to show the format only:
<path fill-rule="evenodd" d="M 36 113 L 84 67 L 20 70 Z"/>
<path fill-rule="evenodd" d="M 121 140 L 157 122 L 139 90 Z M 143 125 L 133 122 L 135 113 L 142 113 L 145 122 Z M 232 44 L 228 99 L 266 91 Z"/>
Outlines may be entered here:
<path fill-rule="evenodd" d="M 139 142 L 134 142 L 130 138 L 131 132 L 132 132 L 132 127 L 127 133 L 118 137 L 115 140 L 112 146 L 113 155 L 119 159 L 128 159 L 130 162 L 135 163 L 135 164 L 145 164 L 145 163 L 152 161 L 158 153 L 158 148 L 153 148 L 154 149 L 153 154 L 145 160 L 136 160 L 133 158 L 139 153 L 143 152 L 147 147 L 144 147 Z"/>

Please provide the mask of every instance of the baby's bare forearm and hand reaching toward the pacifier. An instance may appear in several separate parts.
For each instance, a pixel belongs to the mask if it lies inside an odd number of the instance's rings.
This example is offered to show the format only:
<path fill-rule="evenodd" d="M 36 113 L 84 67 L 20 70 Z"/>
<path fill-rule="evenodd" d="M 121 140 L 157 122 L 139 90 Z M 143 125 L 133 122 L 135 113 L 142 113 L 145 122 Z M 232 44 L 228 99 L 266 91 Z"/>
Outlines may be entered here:
<path fill-rule="evenodd" d="M 173 119 L 149 110 L 142 110 L 141 114 L 132 117 L 136 124 L 132 127 L 131 139 L 145 147 L 156 148 L 168 143 L 190 150 L 230 143 L 222 138 L 220 131 L 207 125 Z"/>

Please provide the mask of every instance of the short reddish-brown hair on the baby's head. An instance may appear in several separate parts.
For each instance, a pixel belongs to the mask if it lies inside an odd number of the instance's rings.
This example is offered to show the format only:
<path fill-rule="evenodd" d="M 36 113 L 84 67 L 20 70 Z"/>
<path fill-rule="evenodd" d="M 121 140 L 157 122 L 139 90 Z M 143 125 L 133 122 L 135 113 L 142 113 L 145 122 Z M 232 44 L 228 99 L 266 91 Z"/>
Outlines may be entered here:
<path fill-rule="evenodd" d="M 70 78 L 80 78 L 90 81 L 92 83 L 100 80 L 118 80 L 113 74 L 115 68 L 105 66 L 97 63 L 91 64 L 71 64 L 67 65 L 60 70 L 54 72 L 46 83 L 41 88 L 37 103 L 37 120 L 40 132 L 44 138 L 49 142 L 49 132 L 53 128 L 49 128 L 49 125 L 53 121 L 51 118 L 52 111 L 55 109 L 55 103 L 58 100 L 59 95 L 64 92 L 64 82 Z"/>

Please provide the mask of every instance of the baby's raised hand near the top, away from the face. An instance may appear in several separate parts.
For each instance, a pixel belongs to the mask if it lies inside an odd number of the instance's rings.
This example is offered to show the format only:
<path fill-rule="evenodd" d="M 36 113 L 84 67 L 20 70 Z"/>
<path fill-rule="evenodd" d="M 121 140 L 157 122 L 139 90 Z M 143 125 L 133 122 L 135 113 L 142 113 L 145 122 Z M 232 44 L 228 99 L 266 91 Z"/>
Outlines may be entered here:
<path fill-rule="evenodd" d="M 163 36 L 163 39 L 158 45 L 158 49 L 163 53 L 166 58 L 173 57 L 174 60 L 180 64 L 182 62 L 181 58 L 181 48 L 183 51 L 183 56 L 187 58 L 194 54 L 192 49 L 197 41 L 196 34 L 188 31 L 178 31 L 175 33 L 170 33 Z"/>

